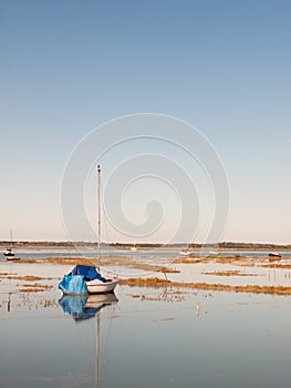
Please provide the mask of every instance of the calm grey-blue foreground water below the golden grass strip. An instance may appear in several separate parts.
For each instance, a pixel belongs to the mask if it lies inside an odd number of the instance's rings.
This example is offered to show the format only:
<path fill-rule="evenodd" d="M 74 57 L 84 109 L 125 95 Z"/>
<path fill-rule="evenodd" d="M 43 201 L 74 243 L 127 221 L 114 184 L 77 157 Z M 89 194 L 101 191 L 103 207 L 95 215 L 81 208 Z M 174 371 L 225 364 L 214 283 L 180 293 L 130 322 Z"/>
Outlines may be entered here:
<path fill-rule="evenodd" d="M 0 387 L 291 386 L 290 297 L 117 286 L 92 300 L 53 282 L 0 282 Z"/>

